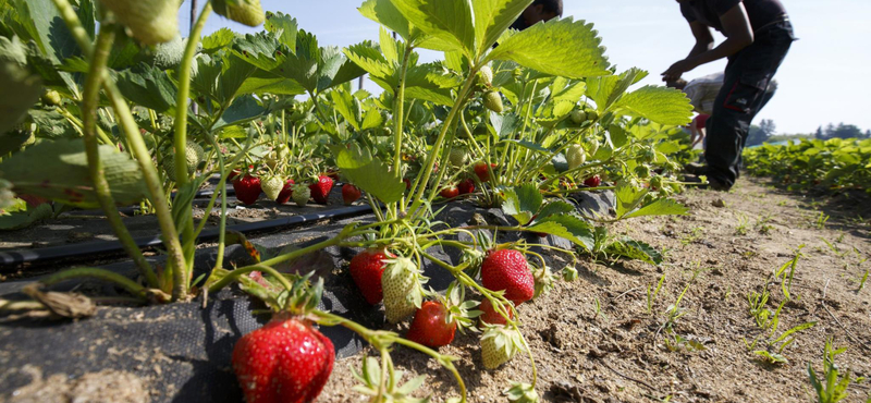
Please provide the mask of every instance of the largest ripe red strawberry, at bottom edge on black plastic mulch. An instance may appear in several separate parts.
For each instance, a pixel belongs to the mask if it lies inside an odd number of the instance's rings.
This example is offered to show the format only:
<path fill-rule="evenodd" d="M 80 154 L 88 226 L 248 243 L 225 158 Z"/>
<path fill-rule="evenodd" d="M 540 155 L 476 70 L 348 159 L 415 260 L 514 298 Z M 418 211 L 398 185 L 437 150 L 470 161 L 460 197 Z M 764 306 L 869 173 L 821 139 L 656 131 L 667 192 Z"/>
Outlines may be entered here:
<path fill-rule="evenodd" d="M 233 349 L 233 370 L 247 403 L 311 402 L 330 378 L 330 339 L 290 314 L 277 314 Z"/>

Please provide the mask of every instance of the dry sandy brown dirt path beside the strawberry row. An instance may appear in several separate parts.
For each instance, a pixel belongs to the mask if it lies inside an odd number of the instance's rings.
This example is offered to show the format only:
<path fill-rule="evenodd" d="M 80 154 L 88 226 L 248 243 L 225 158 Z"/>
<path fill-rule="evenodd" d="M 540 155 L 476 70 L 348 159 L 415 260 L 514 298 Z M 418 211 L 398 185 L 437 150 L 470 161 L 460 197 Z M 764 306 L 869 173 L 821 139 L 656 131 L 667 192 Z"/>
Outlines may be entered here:
<path fill-rule="evenodd" d="M 867 204 L 834 205 L 832 198 L 784 193 L 758 179 L 744 179 L 726 194 L 690 191 L 678 198 L 689 215 L 636 219 L 612 229 L 663 249 L 660 267 L 586 259 L 577 281 L 561 281 L 518 308 L 543 401 L 815 402 L 807 368 L 810 363 L 821 370 L 827 339 L 847 347 L 836 357 L 842 370 L 871 377 L 871 281 L 859 290 L 871 268 L 864 261 L 871 256 L 869 222 L 860 217 Z M 801 245 L 786 301 L 773 273 Z M 647 290 L 663 277 L 648 312 Z M 748 294 L 761 293 L 766 282 L 765 308 L 774 312 L 786 301 L 773 334 L 756 325 L 748 303 Z M 683 315 L 667 325 L 666 310 L 684 290 Z M 788 363 L 770 364 L 753 353 L 777 352 L 781 343 L 769 346 L 769 341 L 807 322 L 815 325 L 794 333 L 782 352 Z M 746 342 L 755 339 L 748 349 Z M 523 355 L 484 370 L 477 335 L 458 335 L 441 353 L 461 358 L 471 402 L 506 401 L 501 391 L 511 380 L 532 379 Z M 393 356 L 400 369 L 428 375 L 417 395 L 432 393 L 437 401 L 456 395 L 450 374 L 422 354 L 397 349 Z M 363 401 L 352 390 L 349 370 L 360 363 L 360 357 L 338 362 L 319 401 Z M 869 387 L 854 382 L 845 401 L 866 402 Z"/>

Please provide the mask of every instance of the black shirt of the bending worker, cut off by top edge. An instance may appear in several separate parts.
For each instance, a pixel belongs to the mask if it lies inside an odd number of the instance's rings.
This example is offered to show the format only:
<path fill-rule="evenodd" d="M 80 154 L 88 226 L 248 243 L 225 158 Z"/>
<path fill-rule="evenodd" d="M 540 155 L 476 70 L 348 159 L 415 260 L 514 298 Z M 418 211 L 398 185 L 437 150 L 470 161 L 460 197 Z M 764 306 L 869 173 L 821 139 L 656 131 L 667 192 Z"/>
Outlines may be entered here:
<path fill-rule="evenodd" d="M 680 12 L 688 22 L 698 21 L 716 30 L 723 32 L 720 16 L 744 2 L 747 16 L 753 30 L 783 20 L 786 9 L 780 0 L 690 0 L 680 3 Z"/>

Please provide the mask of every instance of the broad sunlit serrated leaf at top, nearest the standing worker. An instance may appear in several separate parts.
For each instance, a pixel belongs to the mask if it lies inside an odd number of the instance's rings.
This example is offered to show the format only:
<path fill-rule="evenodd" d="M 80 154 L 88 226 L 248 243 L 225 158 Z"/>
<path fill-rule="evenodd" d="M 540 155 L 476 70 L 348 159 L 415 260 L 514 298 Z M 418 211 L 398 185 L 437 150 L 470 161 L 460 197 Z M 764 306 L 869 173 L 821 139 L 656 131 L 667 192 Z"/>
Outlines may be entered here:
<path fill-rule="evenodd" d="M 538 23 L 510 36 L 487 56 L 568 78 L 609 75 L 608 59 L 592 24 L 571 17 Z"/>

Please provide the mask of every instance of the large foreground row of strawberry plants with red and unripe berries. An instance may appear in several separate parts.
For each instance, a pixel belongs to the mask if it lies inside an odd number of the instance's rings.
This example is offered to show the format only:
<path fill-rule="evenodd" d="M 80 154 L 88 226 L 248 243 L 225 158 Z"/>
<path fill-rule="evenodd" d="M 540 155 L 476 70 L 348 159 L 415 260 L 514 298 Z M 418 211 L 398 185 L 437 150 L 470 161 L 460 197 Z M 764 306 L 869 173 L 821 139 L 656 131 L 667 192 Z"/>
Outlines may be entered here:
<path fill-rule="evenodd" d="M 169 303 L 240 284 L 277 312 L 234 351 L 248 402 L 318 395 L 333 352 L 312 323 L 345 326 L 379 352 L 364 359 L 358 376 L 373 401 L 403 400 L 420 384 L 400 386 L 394 345 L 433 357 L 456 377 L 455 400 L 466 401 L 457 358 L 433 349 L 450 343 L 455 330 L 478 331 L 476 321 L 488 369 L 519 352 L 529 355 L 531 380 L 514 382 L 506 393 L 512 401 L 536 401 L 535 357 L 516 312 L 554 281 L 536 248 L 568 261 L 586 254 L 658 265 L 662 256 L 650 245 L 610 235 L 608 225 L 686 212 L 668 196 L 682 187 L 679 164 L 670 156 L 686 152 L 676 126 L 689 121 L 688 100 L 664 87 L 633 89 L 647 73 L 610 69 L 591 24 L 564 19 L 508 29 L 531 0 L 367 0 L 359 11 L 382 25 L 380 39 L 345 49 L 320 47 L 295 20 L 263 14 L 256 0 L 207 2 L 186 40 L 177 35 L 174 10 L 167 11 L 170 0 L 51 2 L 0 10 L 0 53 L 12 56 L 4 66 L 36 95 L 14 119 L 3 117 L 12 122 L 3 131 L 17 125 L 12 136 L 21 142 L 5 151 L 11 156 L 0 172 L 16 193 L 101 207 L 142 279 L 78 268 L 38 285 L 95 278 L 144 302 Z M 200 37 L 212 12 L 253 26 L 265 22 L 266 30 Z M 27 19 L 35 14 L 40 17 Z M 63 21 L 66 29 L 50 28 L 47 20 Z M 444 60 L 419 63 L 417 49 L 443 51 Z M 363 74 L 383 93 L 354 91 L 351 82 Z M 54 123 L 69 133 L 53 135 Z M 375 222 L 348 224 L 334 237 L 262 261 L 253 253 L 257 264 L 233 270 L 223 268 L 225 245 L 254 247 L 222 232 L 219 259 L 197 283 L 194 251 L 206 220 L 195 222 L 192 202 L 214 174 L 221 181 L 207 210 L 220 198 L 221 231 L 231 176 L 243 203 L 263 191 L 270 200 L 286 202 L 284 193 L 305 204 L 309 196 L 326 202 L 329 175 L 338 174 L 353 186 L 348 198 L 361 195 L 372 205 Z M 615 194 L 610 216 L 582 216 L 566 200 L 601 190 Z M 501 207 L 516 223 L 452 228 L 438 221 L 440 203 L 459 197 Z M 162 270 L 143 257 L 118 215 L 116 205 L 131 203 L 158 219 Z M 500 243 L 499 234 L 522 232 L 564 237 L 573 248 Z M 365 249 L 351 262 L 352 277 L 370 304 L 383 304 L 390 322 L 414 317 L 406 338 L 316 309 L 320 281 L 272 268 L 330 246 Z M 463 259 L 444 261 L 429 253 L 432 247 L 458 249 Z M 447 292 L 425 289 L 426 265 L 455 278 Z M 563 272 L 576 277 L 571 266 Z M 297 349 L 304 345 L 311 349 Z"/>

